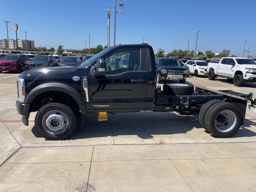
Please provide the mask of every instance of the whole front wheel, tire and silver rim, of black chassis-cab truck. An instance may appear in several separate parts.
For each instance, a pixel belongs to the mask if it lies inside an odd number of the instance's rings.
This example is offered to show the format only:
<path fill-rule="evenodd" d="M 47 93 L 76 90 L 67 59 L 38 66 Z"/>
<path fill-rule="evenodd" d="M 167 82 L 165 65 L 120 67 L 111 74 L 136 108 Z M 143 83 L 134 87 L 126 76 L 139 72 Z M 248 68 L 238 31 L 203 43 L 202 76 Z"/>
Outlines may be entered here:
<path fill-rule="evenodd" d="M 64 104 L 50 103 L 38 110 L 35 125 L 44 138 L 62 140 L 74 132 L 76 115 Z"/>

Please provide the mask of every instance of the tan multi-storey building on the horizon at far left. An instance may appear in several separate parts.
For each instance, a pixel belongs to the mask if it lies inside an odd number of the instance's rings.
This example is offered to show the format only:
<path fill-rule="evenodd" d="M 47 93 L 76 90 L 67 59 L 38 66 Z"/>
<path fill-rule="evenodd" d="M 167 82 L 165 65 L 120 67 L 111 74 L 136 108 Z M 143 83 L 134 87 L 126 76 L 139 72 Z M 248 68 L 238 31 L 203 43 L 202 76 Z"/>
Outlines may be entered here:
<path fill-rule="evenodd" d="M 9 39 L 9 46 L 10 50 L 17 49 L 17 42 L 16 39 Z M 35 42 L 33 40 L 27 40 L 28 49 L 35 48 Z M 7 39 L 0 40 L 0 48 L 8 49 Z M 26 40 L 25 39 L 18 39 L 18 48 L 22 50 L 26 50 Z"/>

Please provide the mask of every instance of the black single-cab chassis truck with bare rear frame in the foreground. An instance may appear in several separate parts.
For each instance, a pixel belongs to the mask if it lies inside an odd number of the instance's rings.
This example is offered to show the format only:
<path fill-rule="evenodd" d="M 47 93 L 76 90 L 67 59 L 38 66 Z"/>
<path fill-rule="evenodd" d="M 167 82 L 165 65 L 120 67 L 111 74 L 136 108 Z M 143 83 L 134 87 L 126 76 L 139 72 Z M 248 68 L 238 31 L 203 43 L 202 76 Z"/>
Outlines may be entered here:
<path fill-rule="evenodd" d="M 164 84 L 161 90 L 156 74 L 154 51 L 148 44 L 111 46 L 75 68 L 23 72 L 17 80 L 16 108 L 25 125 L 30 112 L 38 111 L 36 128 L 51 140 L 70 136 L 77 116 L 107 120 L 107 113 L 137 111 L 190 112 L 199 115 L 200 124 L 214 136 L 228 137 L 243 124 L 248 100 L 255 110 L 253 93 L 179 83 Z"/>

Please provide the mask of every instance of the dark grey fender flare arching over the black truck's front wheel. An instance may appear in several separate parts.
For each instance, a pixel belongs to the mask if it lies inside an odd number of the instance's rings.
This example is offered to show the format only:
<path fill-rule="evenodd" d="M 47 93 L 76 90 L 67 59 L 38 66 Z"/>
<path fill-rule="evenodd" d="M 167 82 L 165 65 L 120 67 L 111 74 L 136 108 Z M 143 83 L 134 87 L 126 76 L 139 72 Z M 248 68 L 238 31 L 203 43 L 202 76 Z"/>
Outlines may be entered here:
<path fill-rule="evenodd" d="M 66 85 L 66 84 L 62 84 L 62 83 L 45 83 L 45 84 L 41 84 L 41 85 L 37 86 L 36 88 L 32 89 L 28 93 L 28 95 L 25 98 L 24 103 L 31 104 L 32 101 L 34 100 L 34 98 L 36 98 L 36 96 L 38 96 L 39 94 L 42 94 L 44 92 L 48 92 L 48 91 L 59 91 L 59 92 L 64 92 L 64 93 L 70 95 L 71 97 L 74 98 L 74 100 L 76 100 L 81 113 L 82 114 L 87 113 L 87 108 L 86 108 L 84 98 L 82 97 L 82 95 L 80 95 L 79 92 L 76 89 L 74 89 L 73 87 Z"/>

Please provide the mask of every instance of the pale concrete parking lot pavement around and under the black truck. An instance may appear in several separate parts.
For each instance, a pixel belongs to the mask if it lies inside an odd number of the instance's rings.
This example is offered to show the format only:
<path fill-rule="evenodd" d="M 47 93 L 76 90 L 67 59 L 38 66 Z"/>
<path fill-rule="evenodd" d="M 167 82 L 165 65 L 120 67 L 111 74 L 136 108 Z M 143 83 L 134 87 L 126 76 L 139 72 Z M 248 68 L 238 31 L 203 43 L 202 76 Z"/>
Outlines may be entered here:
<path fill-rule="evenodd" d="M 256 191 L 256 114 L 231 138 L 215 138 L 197 116 L 174 112 L 86 117 L 66 140 L 42 138 L 16 112 L 18 74 L 0 74 L 0 191 L 235 192 Z M 187 83 L 256 93 L 256 83 L 235 87 L 189 76 Z"/>

